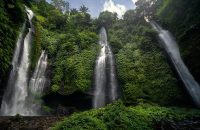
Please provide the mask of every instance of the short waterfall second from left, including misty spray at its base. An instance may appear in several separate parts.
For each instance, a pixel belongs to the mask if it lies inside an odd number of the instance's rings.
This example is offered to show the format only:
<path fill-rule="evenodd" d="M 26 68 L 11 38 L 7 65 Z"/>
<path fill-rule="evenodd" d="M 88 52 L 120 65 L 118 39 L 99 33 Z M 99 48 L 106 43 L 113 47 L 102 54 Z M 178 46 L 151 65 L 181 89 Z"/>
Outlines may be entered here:
<path fill-rule="evenodd" d="M 46 86 L 46 69 L 47 69 L 47 54 L 42 51 L 38 60 L 37 66 L 34 70 L 33 76 L 29 82 L 29 93 L 26 98 L 26 105 L 29 108 L 29 113 L 33 116 L 41 113 L 41 104 L 43 90 Z"/>

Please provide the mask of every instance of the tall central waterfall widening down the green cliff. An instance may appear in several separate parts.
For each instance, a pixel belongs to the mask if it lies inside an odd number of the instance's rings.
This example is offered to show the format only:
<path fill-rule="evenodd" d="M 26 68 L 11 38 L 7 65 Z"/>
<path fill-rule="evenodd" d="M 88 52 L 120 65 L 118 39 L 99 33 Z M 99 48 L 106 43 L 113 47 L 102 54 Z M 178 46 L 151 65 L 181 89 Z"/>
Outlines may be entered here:
<path fill-rule="evenodd" d="M 114 56 L 107 42 L 105 28 L 100 30 L 99 37 L 101 52 L 97 58 L 95 67 L 94 108 L 103 107 L 107 103 L 116 100 L 119 96 Z"/>

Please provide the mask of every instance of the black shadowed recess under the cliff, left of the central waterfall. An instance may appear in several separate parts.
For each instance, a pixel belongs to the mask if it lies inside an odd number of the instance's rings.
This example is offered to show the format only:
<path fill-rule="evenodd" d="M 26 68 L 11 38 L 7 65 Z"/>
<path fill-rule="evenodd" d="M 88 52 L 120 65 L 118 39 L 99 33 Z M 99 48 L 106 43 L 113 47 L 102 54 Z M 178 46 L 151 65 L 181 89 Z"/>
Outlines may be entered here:
<path fill-rule="evenodd" d="M 92 95 L 75 92 L 71 95 L 50 93 L 43 97 L 44 104 L 54 109 L 53 115 L 69 115 L 92 108 Z"/>

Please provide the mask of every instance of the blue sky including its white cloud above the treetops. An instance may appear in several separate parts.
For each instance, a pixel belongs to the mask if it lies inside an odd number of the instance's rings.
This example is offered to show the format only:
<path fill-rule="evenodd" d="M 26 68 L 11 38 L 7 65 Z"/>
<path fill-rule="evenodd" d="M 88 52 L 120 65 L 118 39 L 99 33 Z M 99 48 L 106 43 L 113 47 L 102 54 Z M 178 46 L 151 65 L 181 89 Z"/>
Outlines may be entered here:
<path fill-rule="evenodd" d="M 47 0 L 50 2 L 51 0 Z M 85 5 L 89 8 L 89 13 L 92 17 L 98 17 L 102 11 L 116 12 L 118 17 L 129 9 L 135 9 L 136 0 L 67 0 L 70 3 L 70 8 L 79 8 Z"/>

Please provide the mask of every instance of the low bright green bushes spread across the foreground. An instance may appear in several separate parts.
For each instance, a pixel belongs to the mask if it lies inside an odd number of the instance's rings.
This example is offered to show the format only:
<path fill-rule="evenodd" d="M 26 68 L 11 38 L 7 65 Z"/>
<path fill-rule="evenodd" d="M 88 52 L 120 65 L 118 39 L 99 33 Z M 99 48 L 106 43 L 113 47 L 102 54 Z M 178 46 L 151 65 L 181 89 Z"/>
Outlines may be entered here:
<path fill-rule="evenodd" d="M 55 124 L 53 130 L 106 129 L 106 130 L 153 130 L 154 124 L 165 120 L 184 120 L 199 117 L 200 111 L 185 108 L 166 108 L 150 104 L 125 107 L 117 101 L 105 108 L 73 114 Z M 91 127 L 95 126 L 96 127 Z"/>

